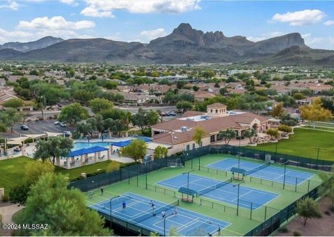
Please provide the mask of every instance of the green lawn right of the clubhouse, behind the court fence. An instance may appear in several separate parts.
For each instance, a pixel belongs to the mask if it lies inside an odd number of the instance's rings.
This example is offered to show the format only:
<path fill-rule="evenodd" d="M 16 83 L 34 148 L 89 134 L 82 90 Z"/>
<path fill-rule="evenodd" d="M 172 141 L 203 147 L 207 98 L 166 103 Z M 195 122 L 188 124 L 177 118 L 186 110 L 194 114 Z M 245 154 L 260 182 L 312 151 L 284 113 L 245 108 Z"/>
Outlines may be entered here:
<path fill-rule="evenodd" d="M 275 143 L 249 147 L 269 152 L 275 152 Z M 312 129 L 294 129 L 294 134 L 287 140 L 278 142 L 277 152 L 294 156 L 317 158 L 317 149 L 320 147 L 319 159 L 334 161 L 334 133 Z"/>

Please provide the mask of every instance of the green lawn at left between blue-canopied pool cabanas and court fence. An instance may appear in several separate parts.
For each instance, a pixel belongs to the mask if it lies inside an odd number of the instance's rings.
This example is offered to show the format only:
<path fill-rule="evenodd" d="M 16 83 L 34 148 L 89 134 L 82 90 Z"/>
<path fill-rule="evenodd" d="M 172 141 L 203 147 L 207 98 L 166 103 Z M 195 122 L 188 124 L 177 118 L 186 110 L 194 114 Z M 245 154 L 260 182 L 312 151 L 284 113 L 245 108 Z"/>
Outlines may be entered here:
<path fill-rule="evenodd" d="M 21 156 L 17 158 L 10 158 L 0 161 L 0 188 L 5 188 L 6 194 L 8 190 L 21 183 L 24 183 L 25 167 L 28 163 L 36 162 L 32 158 Z M 104 169 L 107 171 L 117 170 L 123 165 L 116 161 L 102 161 L 84 167 L 77 167 L 72 170 L 66 170 L 62 167 L 56 167 L 56 172 L 67 174 L 70 179 L 79 177 L 81 173 L 93 173 L 97 169 Z"/>

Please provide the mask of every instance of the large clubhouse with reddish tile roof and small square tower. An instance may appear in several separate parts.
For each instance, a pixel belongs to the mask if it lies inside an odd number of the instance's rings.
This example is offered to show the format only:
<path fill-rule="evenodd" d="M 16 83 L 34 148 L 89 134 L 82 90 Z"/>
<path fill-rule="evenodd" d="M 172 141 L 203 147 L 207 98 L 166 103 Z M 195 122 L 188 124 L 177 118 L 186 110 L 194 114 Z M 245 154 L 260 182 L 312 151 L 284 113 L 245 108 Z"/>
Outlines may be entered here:
<path fill-rule="evenodd" d="M 171 145 L 168 155 L 198 147 L 193 131 L 200 126 L 206 131 L 202 146 L 220 140 L 219 131 L 234 129 L 240 136 L 245 129 L 253 128 L 263 133 L 269 126 L 269 118 L 247 112 L 227 111 L 226 106 L 214 103 L 207 106 L 207 113 L 187 111 L 182 117 L 151 126 L 153 142 Z"/>

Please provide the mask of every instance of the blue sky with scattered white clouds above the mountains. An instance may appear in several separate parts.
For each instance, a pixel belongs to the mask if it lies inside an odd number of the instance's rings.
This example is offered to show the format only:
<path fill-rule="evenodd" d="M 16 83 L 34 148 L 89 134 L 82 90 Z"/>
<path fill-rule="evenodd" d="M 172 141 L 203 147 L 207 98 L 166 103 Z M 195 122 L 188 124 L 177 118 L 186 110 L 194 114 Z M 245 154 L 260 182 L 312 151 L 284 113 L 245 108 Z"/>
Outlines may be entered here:
<path fill-rule="evenodd" d="M 334 49 L 334 1 L 0 1 L 0 44 L 46 35 L 150 42 L 182 22 L 258 41 L 299 32 L 310 47 Z"/>

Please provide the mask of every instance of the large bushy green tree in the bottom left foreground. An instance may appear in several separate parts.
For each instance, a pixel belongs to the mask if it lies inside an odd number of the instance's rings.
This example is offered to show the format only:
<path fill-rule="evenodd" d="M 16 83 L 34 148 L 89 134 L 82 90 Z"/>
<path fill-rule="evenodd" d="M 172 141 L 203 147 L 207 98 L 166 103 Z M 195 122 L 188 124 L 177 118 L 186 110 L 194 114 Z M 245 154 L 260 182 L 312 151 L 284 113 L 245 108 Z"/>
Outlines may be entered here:
<path fill-rule="evenodd" d="M 22 236 L 109 236 L 104 220 L 96 211 L 87 209 L 84 194 L 68 189 L 63 174 L 42 174 L 31 186 L 26 208 L 22 213 L 25 224 L 49 224 L 47 230 L 24 230 Z M 22 223 L 20 223 L 22 224 Z"/>

